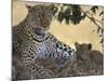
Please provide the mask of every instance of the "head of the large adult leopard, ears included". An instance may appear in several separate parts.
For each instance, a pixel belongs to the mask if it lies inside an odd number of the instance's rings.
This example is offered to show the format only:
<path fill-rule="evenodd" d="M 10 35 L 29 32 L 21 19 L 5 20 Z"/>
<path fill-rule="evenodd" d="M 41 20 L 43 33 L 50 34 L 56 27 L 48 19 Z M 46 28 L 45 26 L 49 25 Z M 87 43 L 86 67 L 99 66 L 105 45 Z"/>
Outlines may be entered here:
<path fill-rule="evenodd" d="M 48 30 L 52 22 L 52 17 L 57 11 L 57 8 L 54 4 L 37 4 L 37 5 L 27 5 L 28 9 L 28 23 L 33 28 Z"/>

